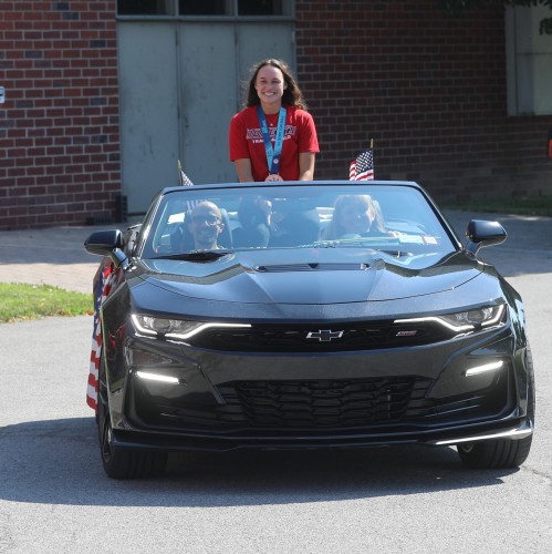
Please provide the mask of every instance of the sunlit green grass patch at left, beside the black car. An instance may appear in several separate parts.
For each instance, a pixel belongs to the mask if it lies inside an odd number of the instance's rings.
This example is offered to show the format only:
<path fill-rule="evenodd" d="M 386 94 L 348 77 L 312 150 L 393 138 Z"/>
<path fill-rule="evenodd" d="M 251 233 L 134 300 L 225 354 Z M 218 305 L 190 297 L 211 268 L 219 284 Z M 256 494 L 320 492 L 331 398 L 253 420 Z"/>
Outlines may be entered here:
<path fill-rule="evenodd" d="M 50 285 L 0 283 L 0 324 L 93 314 L 92 295 Z"/>

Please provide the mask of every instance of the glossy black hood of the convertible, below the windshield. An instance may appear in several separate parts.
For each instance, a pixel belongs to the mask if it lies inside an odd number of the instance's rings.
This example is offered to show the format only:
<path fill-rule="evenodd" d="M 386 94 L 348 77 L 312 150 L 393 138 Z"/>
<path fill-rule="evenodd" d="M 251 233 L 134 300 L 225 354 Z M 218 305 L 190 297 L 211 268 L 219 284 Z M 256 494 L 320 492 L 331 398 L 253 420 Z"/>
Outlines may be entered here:
<path fill-rule="evenodd" d="M 139 260 L 134 274 L 176 295 L 240 304 L 327 305 L 449 291 L 483 265 L 464 253 L 403 256 L 365 249 L 236 252 L 211 261 Z"/>

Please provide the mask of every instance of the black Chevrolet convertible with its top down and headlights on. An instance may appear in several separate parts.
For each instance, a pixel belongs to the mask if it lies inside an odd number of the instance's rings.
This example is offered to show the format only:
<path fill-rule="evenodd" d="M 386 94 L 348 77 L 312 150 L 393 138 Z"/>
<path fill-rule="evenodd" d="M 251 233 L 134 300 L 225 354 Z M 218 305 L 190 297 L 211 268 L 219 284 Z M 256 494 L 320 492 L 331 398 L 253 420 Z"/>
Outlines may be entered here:
<path fill-rule="evenodd" d="M 178 450 L 456 445 L 529 454 L 534 380 L 519 294 L 409 182 L 166 188 L 140 225 L 86 240 L 88 403 L 103 465 L 144 478 Z"/>

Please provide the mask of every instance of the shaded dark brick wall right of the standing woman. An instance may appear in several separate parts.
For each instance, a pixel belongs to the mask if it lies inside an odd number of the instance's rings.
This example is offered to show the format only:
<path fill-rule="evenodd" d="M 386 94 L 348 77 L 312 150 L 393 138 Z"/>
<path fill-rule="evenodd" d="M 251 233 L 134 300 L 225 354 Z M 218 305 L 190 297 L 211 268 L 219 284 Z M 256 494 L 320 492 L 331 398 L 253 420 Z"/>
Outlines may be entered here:
<path fill-rule="evenodd" d="M 373 137 L 376 178 L 438 199 L 552 194 L 552 117 L 507 116 L 503 9 L 452 19 L 436 4 L 296 0 L 316 178 L 346 178 Z"/>

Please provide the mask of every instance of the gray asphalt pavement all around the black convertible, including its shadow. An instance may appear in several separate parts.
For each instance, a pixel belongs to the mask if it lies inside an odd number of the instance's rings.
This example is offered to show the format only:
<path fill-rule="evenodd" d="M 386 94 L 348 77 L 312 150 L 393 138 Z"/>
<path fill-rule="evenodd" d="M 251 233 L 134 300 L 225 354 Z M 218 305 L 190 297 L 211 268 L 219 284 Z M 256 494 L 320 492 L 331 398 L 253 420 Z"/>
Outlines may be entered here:
<path fill-rule="evenodd" d="M 537 431 L 519 470 L 471 471 L 452 449 L 403 445 L 186 453 L 165 478 L 113 482 L 84 401 L 91 317 L 22 321 L 0 326 L 0 553 L 549 552 L 552 218 L 446 215 L 460 236 L 470 218 L 509 233 L 481 253 L 530 322 Z M 98 257 L 83 243 L 95 228 L 0 232 L 0 281 L 90 291 Z"/>

